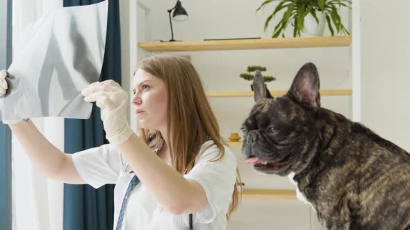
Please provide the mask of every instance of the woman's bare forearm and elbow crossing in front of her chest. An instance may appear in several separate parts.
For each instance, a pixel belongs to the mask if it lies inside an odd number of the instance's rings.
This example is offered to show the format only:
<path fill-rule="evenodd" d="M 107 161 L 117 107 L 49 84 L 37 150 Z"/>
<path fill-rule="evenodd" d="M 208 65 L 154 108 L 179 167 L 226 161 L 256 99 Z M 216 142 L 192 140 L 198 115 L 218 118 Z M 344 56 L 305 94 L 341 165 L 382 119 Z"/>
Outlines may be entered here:
<path fill-rule="evenodd" d="M 132 134 L 118 148 L 138 179 L 170 213 L 193 213 L 208 206 L 202 186 L 186 179 L 153 154 L 136 134 Z"/>

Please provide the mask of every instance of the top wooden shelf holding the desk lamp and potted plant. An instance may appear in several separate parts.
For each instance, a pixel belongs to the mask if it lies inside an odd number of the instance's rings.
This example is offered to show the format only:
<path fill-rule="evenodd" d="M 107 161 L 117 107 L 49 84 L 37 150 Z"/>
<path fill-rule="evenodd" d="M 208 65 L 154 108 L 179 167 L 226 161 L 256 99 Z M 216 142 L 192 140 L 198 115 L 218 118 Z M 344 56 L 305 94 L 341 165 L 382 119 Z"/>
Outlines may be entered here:
<path fill-rule="evenodd" d="M 170 51 L 230 51 L 265 48 L 311 48 L 350 46 L 351 36 L 289 37 L 264 39 L 228 39 L 191 42 L 138 42 L 138 47 L 149 52 Z"/>

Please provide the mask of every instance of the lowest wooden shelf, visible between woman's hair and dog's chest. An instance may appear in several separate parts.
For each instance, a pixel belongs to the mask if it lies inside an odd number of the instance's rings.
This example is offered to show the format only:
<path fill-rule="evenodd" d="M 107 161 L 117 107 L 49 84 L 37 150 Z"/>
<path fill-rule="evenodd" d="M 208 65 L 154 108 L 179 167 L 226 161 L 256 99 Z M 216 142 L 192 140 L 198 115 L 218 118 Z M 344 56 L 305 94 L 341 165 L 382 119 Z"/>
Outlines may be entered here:
<path fill-rule="evenodd" d="M 295 190 L 281 189 L 245 189 L 243 199 L 277 199 L 277 200 L 297 200 Z"/>

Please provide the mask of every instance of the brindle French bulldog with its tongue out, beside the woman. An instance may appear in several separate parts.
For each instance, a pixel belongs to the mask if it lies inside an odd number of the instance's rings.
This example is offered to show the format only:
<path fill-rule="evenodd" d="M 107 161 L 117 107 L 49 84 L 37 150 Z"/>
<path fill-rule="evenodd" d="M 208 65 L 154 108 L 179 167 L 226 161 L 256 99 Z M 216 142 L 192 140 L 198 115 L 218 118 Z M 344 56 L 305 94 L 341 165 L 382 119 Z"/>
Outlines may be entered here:
<path fill-rule="evenodd" d="M 410 229 L 410 154 L 320 107 L 319 85 L 306 63 L 286 95 L 273 98 L 255 74 L 256 104 L 242 127 L 247 163 L 291 175 L 322 229 Z"/>

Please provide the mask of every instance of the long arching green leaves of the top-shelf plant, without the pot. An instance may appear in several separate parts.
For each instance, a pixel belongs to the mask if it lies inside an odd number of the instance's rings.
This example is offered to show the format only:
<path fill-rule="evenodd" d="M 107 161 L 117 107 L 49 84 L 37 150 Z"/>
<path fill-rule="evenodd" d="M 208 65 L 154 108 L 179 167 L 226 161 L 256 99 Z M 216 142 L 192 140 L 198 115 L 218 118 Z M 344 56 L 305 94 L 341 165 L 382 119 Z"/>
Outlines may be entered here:
<path fill-rule="evenodd" d="M 277 0 L 264 1 L 261 6 L 256 9 L 256 12 L 265 8 L 265 6 L 272 1 Z M 268 28 L 272 17 L 275 17 L 279 11 L 284 10 L 284 15 L 278 20 L 276 26 L 274 26 L 272 37 L 279 37 L 279 35 L 285 37 L 284 31 L 289 24 L 294 27 L 293 37 L 300 37 L 300 32 L 304 29 L 304 17 L 311 13 L 315 21 L 319 24 L 316 12 L 321 11 L 326 17 L 327 26 L 332 36 L 335 34 L 335 29 L 336 33 L 350 35 L 349 31 L 347 31 L 342 24 L 339 8 L 346 7 L 351 9 L 351 4 L 351 0 L 280 0 L 272 14 L 266 19 L 265 30 Z"/>

